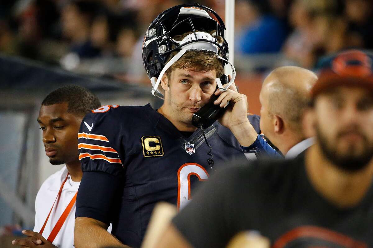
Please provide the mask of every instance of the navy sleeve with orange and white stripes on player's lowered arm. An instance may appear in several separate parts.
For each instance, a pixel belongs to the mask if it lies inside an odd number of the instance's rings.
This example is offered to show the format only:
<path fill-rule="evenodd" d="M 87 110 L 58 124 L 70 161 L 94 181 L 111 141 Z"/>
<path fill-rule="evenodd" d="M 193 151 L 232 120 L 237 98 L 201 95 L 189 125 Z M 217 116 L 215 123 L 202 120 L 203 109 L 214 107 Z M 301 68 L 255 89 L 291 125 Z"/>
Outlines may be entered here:
<path fill-rule="evenodd" d="M 103 106 L 86 115 L 81 123 L 79 160 L 83 177 L 76 197 L 75 217 L 87 217 L 106 224 L 120 199 L 125 170 L 121 159 L 120 135 L 115 111 L 117 105 Z M 101 111 L 101 112 L 100 112 Z"/>

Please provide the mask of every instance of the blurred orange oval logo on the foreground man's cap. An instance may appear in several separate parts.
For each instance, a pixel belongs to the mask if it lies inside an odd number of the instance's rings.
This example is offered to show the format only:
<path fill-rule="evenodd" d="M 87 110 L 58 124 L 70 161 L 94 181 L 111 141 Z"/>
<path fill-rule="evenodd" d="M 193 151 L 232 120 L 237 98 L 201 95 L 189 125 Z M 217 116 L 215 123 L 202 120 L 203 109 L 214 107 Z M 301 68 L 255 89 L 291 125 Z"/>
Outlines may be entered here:
<path fill-rule="evenodd" d="M 332 70 L 341 76 L 367 77 L 372 74 L 372 59 L 364 52 L 343 52 L 332 61 Z"/>

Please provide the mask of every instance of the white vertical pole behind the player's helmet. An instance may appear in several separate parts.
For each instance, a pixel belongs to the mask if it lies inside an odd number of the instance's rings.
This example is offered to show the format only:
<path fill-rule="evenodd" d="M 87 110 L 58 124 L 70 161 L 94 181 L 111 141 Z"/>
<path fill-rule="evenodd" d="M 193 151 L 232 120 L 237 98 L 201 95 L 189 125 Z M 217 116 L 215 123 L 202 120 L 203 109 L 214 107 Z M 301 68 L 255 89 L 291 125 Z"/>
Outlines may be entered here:
<path fill-rule="evenodd" d="M 225 0 L 225 39 L 229 45 L 229 62 L 234 61 L 234 5 L 235 0 Z"/>

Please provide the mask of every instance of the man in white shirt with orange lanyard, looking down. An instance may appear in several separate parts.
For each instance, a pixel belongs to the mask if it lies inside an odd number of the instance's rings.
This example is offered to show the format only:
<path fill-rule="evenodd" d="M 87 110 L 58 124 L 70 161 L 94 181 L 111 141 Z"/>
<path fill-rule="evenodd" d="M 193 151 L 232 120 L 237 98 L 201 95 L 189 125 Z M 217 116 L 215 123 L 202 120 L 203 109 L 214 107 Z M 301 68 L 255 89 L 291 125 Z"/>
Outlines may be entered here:
<path fill-rule="evenodd" d="M 80 86 L 64 86 L 42 102 L 38 116 L 49 162 L 65 166 L 47 178 L 35 199 L 34 231 L 15 239 L 22 247 L 72 248 L 74 244 L 75 199 L 82 178 L 78 131 L 83 117 L 100 107 L 100 100 Z M 82 123 L 84 125 L 84 123 Z"/>

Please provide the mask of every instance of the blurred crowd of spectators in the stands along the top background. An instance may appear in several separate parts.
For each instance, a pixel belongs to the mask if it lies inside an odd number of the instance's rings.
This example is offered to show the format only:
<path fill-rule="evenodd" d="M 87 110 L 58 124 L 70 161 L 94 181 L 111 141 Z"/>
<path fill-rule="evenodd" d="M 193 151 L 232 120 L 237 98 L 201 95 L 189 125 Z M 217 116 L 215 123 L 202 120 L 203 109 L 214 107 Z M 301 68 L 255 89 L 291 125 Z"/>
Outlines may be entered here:
<path fill-rule="evenodd" d="M 90 74 L 146 78 L 145 30 L 185 0 L 2 0 L 0 52 Z M 200 0 L 224 19 L 224 0 Z M 322 55 L 373 47 L 371 0 L 236 0 L 235 55 L 281 54 L 314 68 Z M 242 68 L 239 67 L 239 68 Z"/>

